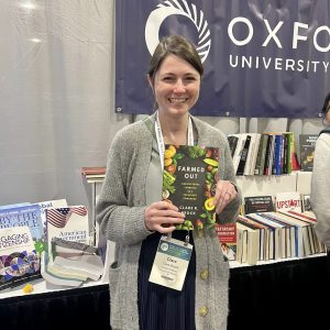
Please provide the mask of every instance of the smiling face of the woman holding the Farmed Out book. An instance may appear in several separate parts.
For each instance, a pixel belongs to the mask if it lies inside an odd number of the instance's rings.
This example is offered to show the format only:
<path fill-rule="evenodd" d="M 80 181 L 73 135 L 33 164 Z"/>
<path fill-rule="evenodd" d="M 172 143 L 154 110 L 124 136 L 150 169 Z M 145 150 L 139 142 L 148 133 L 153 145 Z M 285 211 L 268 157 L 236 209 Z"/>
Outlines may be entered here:
<path fill-rule="evenodd" d="M 197 102 L 200 88 L 199 73 L 183 58 L 168 55 L 150 80 L 158 110 L 168 114 L 185 114 Z"/>

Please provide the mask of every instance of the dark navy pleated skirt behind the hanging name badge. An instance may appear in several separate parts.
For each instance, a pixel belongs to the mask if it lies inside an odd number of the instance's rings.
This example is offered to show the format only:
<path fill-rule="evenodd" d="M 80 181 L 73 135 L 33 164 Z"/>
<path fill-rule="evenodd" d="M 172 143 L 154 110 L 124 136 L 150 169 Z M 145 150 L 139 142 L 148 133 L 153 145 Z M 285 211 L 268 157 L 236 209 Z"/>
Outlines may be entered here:
<path fill-rule="evenodd" d="M 187 232 L 176 230 L 172 237 L 185 241 Z M 189 233 L 194 245 L 193 233 Z M 182 292 L 148 282 L 161 234 L 155 232 L 143 241 L 139 261 L 139 317 L 141 330 L 195 329 L 196 254 L 193 249 Z"/>

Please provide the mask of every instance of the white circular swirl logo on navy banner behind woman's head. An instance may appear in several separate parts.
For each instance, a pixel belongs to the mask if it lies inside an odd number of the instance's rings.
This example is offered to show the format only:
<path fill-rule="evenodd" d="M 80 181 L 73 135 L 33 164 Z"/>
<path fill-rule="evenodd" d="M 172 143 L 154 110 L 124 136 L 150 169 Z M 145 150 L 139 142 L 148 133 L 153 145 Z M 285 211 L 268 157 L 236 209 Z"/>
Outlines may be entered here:
<path fill-rule="evenodd" d="M 145 44 L 148 53 L 152 55 L 160 42 L 160 29 L 165 19 L 170 15 L 183 15 L 188 18 L 196 26 L 198 33 L 197 52 L 204 63 L 208 57 L 211 48 L 211 33 L 209 24 L 205 19 L 205 14 L 201 10 L 196 8 L 196 4 L 188 3 L 186 0 L 172 0 L 164 1 L 164 3 L 157 4 L 157 8 L 153 10 L 145 23 Z"/>

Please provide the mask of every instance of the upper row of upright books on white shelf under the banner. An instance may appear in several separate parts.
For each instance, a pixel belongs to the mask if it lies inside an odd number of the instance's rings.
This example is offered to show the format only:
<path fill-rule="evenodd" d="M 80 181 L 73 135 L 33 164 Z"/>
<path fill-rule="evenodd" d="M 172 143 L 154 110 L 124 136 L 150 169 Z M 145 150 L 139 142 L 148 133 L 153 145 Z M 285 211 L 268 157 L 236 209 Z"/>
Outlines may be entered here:
<path fill-rule="evenodd" d="M 237 175 L 282 175 L 312 170 L 318 135 L 299 135 L 299 160 L 293 132 L 241 133 L 228 135 Z"/>

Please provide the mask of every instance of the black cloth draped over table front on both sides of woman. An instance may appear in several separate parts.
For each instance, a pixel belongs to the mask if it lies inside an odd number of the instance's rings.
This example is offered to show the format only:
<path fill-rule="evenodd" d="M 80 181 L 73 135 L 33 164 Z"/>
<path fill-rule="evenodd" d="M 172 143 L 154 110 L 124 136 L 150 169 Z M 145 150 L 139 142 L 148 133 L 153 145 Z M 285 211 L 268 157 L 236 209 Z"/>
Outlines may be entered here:
<path fill-rule="evenodd" d="M 231 268 L 228 329 L 324 329 L 330 256 Z M 326 299 L 326 302 L 324 302 Z M 1 329 L 109 329 L 109 286 L 1 299 Z M 175 328 L 174 328 L 175 329 Z M 216 330 L 216 329 L 215 329 Z"/>

